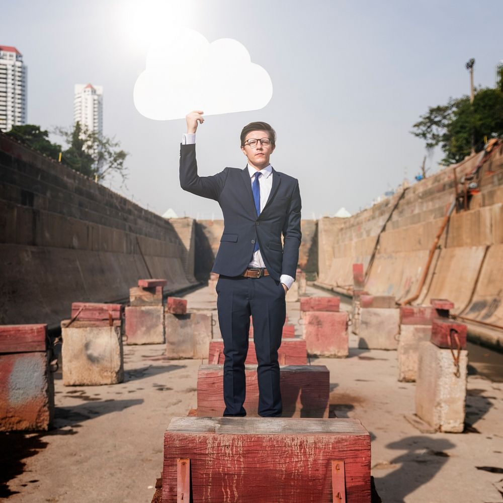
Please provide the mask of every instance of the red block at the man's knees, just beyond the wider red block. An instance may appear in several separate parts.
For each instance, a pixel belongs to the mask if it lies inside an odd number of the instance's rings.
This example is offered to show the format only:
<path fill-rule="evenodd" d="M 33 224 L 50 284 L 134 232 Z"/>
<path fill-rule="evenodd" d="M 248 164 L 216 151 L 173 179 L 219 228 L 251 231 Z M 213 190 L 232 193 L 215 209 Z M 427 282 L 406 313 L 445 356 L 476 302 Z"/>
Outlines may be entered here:
<path fill-rule="evenodd" d="M 213 339 L 210 341 L 208 363 L 210 365 L 223 365 L 224 360 L 223 340 Z M 303 339 L 285 339 L 278 350 L 278 362 L 280 365 L 306 365 L 306 342 Z M 248 355 L 244 363 L 246 365 L 257 365 L 257 355 L 255 354 L 255 343 L 253 340 L 250 340 L 248 343 Z"/>

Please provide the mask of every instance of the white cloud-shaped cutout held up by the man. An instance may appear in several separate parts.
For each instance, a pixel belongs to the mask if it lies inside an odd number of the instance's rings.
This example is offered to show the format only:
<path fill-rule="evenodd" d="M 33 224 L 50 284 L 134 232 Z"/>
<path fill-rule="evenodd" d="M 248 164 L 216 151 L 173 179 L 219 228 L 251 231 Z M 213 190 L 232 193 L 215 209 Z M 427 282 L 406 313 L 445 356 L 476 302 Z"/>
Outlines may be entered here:
<path fill-rule="evenodd" d="M 272 95 L 271 77 L 237 40 L 210 44 L 200 33 L 180 28 L 148 51 L 133 101 L 145 117 L 170 120 L 191 110 L 205 115 L 259 110 Z"/>

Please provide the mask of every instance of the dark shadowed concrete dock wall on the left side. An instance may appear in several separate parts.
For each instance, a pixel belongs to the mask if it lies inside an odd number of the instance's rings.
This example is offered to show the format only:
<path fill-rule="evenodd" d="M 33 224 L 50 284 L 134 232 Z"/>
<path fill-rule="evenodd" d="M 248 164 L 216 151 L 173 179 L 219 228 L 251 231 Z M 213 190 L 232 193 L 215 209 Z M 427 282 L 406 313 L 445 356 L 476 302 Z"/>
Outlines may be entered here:
<path fill-rule="evenodd" d="M 139 278 L 195 283 L 195 224 L 171 223 L 0 134 L 0 324 L 128 297 Z"/>

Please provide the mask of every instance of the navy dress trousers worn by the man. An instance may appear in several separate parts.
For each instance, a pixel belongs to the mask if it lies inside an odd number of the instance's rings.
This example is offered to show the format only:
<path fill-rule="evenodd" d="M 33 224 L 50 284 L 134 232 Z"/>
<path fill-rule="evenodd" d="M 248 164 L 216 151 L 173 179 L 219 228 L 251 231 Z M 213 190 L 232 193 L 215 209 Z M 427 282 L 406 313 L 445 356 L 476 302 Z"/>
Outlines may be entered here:
<path fill-rule="evenodd" d="M 220 276 L 218 321 L 224 344 L 224 416 L 244 416 L 244 361 L 248 353 L 250 315 L 253 318 L 259 379 L 259 415 L 281 416 L 278 349 L 286 317 L 285 290 L 271 276 Z"/>

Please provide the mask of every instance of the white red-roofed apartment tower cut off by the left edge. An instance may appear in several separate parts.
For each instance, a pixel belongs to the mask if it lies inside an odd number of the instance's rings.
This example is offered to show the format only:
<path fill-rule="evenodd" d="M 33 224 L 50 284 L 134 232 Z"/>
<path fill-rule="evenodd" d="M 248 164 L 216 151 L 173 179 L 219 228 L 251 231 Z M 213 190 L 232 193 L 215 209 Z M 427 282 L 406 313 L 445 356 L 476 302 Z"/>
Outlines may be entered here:
<path fill-rule="evenodd" d="M 26 124 L 26 74 L 16 47 L 0 45 L 0 131 Z"/>

